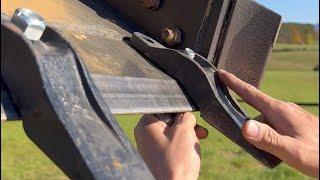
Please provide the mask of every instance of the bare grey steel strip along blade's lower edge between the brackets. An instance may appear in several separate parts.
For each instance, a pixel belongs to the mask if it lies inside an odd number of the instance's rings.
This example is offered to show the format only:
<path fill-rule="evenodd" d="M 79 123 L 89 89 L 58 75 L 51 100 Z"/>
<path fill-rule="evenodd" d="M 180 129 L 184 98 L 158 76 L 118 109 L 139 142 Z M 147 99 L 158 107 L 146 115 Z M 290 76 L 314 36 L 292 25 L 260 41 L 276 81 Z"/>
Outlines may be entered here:
<path fill-rule="evenodd" d="M 112 114 L 153 114 L 195 111 L 175 80 L 92 74 Z M 9 92 L 1 90 L 1 120 L 18 120 Z M 3 109 L 2 109 L 3 105 Z"/>

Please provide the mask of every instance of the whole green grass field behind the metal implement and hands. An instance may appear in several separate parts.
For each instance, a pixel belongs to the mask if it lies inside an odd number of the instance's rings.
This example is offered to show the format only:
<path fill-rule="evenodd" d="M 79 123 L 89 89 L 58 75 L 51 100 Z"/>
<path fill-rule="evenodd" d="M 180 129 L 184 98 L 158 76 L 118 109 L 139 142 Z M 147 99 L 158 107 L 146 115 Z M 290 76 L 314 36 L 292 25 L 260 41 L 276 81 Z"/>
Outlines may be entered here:
<path fill-rule="evenodd" d="M 300 56 L 296 57 L 297 54 Z M 318 56 L 318 52 L 313 50 L 274 52 L 264 76 L 262 90 L 286 101 L 318 103 L 319 74 L 312 71 L 312 66 L 318 64 Z M 240 104 L 251 117 L 258 115 L 253 108 Z M 319 115 L 318 106 L 304 108 Z M 117 116 L 117 119 L 129 139 L 135 143 L 133 128 L 139 116 Z M 273 170 L 267 169 L 208 126 L 199 116 L 198 123 L 209 129 L 208 139 L 200 142 L 200 179 L 310 179 L 285 164 Z M 3 179 L 67 179 L 26 137 L 20 121 L 1 123 L 1 157 Z"/>

